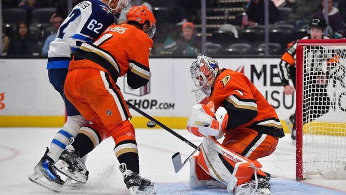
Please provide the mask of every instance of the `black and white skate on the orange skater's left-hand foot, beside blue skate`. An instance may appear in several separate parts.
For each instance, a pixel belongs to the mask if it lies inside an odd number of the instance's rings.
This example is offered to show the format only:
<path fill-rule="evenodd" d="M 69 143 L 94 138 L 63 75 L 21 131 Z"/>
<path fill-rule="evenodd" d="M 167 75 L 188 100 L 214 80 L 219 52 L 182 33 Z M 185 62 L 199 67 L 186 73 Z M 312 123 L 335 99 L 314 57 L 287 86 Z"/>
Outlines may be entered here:
<path fill-rule="evenodd" d="M 89 178 L 89 171 L 86 170 L 85 164 L 79 158 L 74 150 L 73 139 L 66 146 L 64 152 L 60 155 L 59 160 L 55 163 L 56 170 L 66 175 L 67 177 L 85 183 Z"/>

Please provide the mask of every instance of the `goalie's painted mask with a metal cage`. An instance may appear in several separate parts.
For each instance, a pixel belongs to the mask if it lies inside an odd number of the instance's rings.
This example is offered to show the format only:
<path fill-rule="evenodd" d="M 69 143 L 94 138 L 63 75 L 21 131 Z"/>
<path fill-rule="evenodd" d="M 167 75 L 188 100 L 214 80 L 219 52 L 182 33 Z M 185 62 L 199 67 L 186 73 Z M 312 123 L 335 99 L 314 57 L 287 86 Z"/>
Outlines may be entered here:
<path fill-rule="evenodd" d="M 197 59 L 191 64 L 190 73 L 196 89 L 192 90 L 195 94 L 196 100 L 199 100 L 201 93 L 197 94 L 199 90 L 206 94 L 208 97 L 211 94 L 211 88 L 216 78 L 217 70 L 219 69 L 218 63 L 205 55 L 198 55 Z"/>

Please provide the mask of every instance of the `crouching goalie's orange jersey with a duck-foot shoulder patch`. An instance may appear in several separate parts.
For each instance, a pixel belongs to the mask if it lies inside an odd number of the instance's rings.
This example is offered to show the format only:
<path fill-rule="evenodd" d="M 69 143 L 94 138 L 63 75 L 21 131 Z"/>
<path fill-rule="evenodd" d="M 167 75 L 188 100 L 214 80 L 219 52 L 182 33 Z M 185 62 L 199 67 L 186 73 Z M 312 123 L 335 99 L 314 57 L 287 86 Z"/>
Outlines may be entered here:
<path fill-rule="evenodd" d="M 227 131 L 248 127 L 261 133 L 283 137 L 284 132 L 275 109 L 240 72 L 222 69 L 215 79 L 208 98 L 214 101 L 215 110 L 223 106 L 228 113 Z"/>

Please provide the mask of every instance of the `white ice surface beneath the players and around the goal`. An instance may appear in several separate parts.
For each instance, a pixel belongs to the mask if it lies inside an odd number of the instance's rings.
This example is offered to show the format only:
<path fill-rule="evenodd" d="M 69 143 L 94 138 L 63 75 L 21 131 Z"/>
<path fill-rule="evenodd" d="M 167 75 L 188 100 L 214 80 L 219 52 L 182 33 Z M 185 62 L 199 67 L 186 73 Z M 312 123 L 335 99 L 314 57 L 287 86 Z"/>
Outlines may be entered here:
<path fill-rule="evenodd" d="M 30 182 L 27 177 L 49 146 L 58 128 L 0 128 L 0 194 L 54 194 Z M 179 134 L 199 145 L 201 138 L 186 130 Z M 189 163 L 176 174 L 171 156 L 182 160 L 194 150 L 163 129 L 137 129 L 140 174 L 155 183 L 157 194 L 228 194 L 226 189 L 189 188 Z M 65 188 L 60 194 L 129 194 L 108 138 L 92 151 L 86 162 L 90 177 L 81 188 Z M 281 138 L 276 151 L 259 159 L 263 170 L 272 174 L 273 194 L 346 194 L 346 180 L 316 178 L 295 181 L 295 146 L 290 135 Z"/>

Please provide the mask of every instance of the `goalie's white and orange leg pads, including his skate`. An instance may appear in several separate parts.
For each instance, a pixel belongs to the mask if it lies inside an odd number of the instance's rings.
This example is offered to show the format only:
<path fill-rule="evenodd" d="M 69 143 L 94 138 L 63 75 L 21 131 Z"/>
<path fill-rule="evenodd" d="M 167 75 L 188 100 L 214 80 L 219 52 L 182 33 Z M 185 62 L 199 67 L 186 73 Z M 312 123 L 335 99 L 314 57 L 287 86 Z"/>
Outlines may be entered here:
<path fill-rule="evenodd" d="M 270 191 L 270 184 L 266 179 L 266 174 L 260 169 L 262 165 L 259 162 L 252 161 L 221 146 L 213 138 L 204 138 L 199 155 L 193 158 L 204 172 L 226 185 L 229 191 L 235 189 L 236 192 L 242 194 L 252 192 L 256 192 L 254 194 L 270 194 L 267 193 Z M 193 161 L 193 158 L 190 161 Z M 192 163 L 191 168 L 195 168 Z M 198 169 L 197 167 L 195 170 L 190 170 L 190 185 L 193 179 L 197 185 L 201 183 L 208 184 L 210 179 L 204 175 L 203 171 L 198 171 Z M 213 182 L 212 185 L 215 186 L 216 183 Z M 254 188 L 255 185 L 252 185 L 256 183 L 257 189 Z M 222 185 L 218 186 L 222 187 Z"/>

